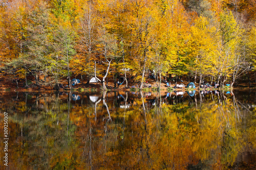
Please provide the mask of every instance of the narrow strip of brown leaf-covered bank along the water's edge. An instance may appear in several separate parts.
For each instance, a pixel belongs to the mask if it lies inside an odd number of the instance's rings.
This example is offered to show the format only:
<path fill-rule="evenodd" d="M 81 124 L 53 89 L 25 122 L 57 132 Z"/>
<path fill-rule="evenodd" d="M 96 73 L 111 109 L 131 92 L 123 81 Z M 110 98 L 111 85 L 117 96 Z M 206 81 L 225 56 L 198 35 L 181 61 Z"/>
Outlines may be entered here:
<path fill-rule="evenodd" d="M 191 91 L 191 90 L 196 90 L 196 91 L 201 91 L 201 90 L 230 90 L 230 89 L 256 89 L 255 86 L 256 86 L 256 83 L 255 84 L 251 84 L 253 87 L 249 87 L 249 84 L 240 84 L 240 86 L 237 86 L 237 87 L 228 87 L 228 86 L 225 86 L 224 88 L 212 88 L 212 87 L 206 87 L 206 88 L 199 88 L 199 84 L 198 83 L 195 83 L 195 86 L 196 88 L 195 89 L 192 89 L 192 88 L 185 88 L 185 87 L 182 87 L 182 88 L 174 88 L 175 86 L 175 83 L 172 83 L 170 84 L 170 87 L 167 87 L 166 86 L 166 83 L 161 83 L 160 84 L 160 90 L 157 90 L 157 84 L 155 81 L 152 81 L 152 80 L 146 80 L 146 82 L 148 84 L 151 84 L 152 87 L 150 88 L 142 88 L 141 90 L 136 87 L 136 88 L 132 88 L 132 86 L 134 86 L 136 83 L 131 81 L 131 82 L 128 82 L 128 87 L 125 88 L 124 85 L 122 86 L 119 86 L 119 87 L 115 87 L 114 85 L 114 82 L 109 82 L 108 83 L 108 89 L 106 89 L 105 91 L 166 91 L 166 92 L 171 92 L 171 91 Z M 146 84 L 146 82 L 144 82 Z M 61 82 L 63 85 L 65 85 L 64 81 Z M 177 84 L 184 84 L 185 86 L 187 84 L 189 84 L 190 82 L 188 81 L 183 81 L 183 82 L 177 82 Z M 23 84 L 23 85 L 21 85 Z M 69 88 L 60 88 L 59 90 L 56 90 L 54 88 L 53 85 L 40 85 L 40 86 L 37 86 L 35 84 L 34 81 L 31 82 L 31 84 L 28 86 L 28 87 L 24 87 L 24 82 L 20 82 L 19 83 L 19 87 L 17 88 L 16 87 L 16 83 L 14 83 L 11 79 L 4 79 L 3 81 L 0 82 L 0 90 L 1 91 L 13 91 L 13 92 L 16 92 L 16 91 L 19 91 L 19 92 L 31 92 L 31 91 L 34 91 L 34 92 L 51 92 L 51 91 L 76 91 L 76 92 L 99 92 L 99 91 L 104 91 L 102 89 L 102 86 L 100 83 L 89 83 L 89 84 L 86 84 L 84 82 L 81 82 L 75 86 L 73 86 L 73 89 L 69 89 Z"/>

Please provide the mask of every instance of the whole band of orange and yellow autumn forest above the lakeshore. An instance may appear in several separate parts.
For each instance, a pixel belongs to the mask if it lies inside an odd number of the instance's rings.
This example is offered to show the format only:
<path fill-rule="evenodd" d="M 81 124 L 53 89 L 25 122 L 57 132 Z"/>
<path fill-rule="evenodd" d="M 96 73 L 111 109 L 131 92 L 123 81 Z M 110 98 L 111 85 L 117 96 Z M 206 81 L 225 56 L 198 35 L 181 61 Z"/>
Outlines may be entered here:
<path fill-rule="evenodd" d="M 0 0 L 0 70 L 56 85 L 82 75 L 189 76 L 220 85 L 253 70 L 255 0 Z M 38 77 L 44 77 L 38 79 Z M 126 80 L 127 86 L 127 80 Z"/>

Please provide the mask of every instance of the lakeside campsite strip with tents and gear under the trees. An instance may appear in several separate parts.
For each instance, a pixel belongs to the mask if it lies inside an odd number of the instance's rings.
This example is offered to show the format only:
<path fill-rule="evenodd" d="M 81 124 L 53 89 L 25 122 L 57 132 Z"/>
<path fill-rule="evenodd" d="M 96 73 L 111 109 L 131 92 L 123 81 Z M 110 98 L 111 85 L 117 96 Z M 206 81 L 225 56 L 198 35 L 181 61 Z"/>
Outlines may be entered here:
<path fill-rule="evenodd" d="M 42 78 L 39 76 L 39 78 Z M 73 78 L 73 77 L 72 77 Z M 54 85 L 52 86 L 44 86 L 44 85 L 40 85 L 37 86 L 36 82 L 33 81 L 33 77 L 28 76 L 28 79 L 30 81 L 30 84 L 28 85 L 28 87 L 25 87 L 25 80 L 24 79 L 20 79 L 18 80 L 18 82 L 14 81 L 13 79 L 11 79 L 10 77 L 5 77 L 1 79 L 1 86 L 0 89 L 2 90 L 7 90 L 7 91 L 52 91 L 52 90 L 70 90 L 69 88 L 69 84 L 67 80 L 61 80 L 59 83 L 59 89 L 56 89 Z M 162 82 L 159 86 L 159 82 L 157 82 L 155 79 L 153 78 L 146 78 L 144 83 L 143 83 L 143 88 L 147 89 L 147 90 L 153 90 L 158 88 L 158 86 L 160 87 L 160 90 L 166 91 L 167 89 L 173 89 L 173 90 L 178 90 L 178 91 L 182 91 L 185 90 L 187 88 L 194 88 L 195 90 L 199 90 L 199 89 L 218 89 L 218 88 L 227 88 L 229 86 L 227 86 L 226 84 L 223 85 L 223 87 L 220 87 L 219 84 L 217 84 L 216 82 L 212 82 L 212 84 L 210 85 L 210 83 L 203 83 L 201 84 L 201 86 L 199 87 L 199 83 L 194 83 L 194 82 L 189 82 L 186 81 L 186 77 L 182 78 L 183 80 L 181 81 L 177 81 L 177 83 L 175 82 L 175 78 L 174 79 L 167 79 L 168 81 L 166 81 L 166 79 L 162 79 Z M 18 88 L 17 88 L 17 84 L 18 84 Z M 86 79 L 78 79 L 78 77 L 74 77 L 71 80 L 71 84 L 72 84 L 72 88 L 73 90 L 76 89 L 95 89 L 97 91 L 103 90 L 102 89 L 102 83 L 95 79 L 95 77 L 90 78 L 89 80 Z M 113 79 L 109 78 L 107 79 L 107 81 L 105 82 L 106 87 L 108 90 L 111 91 L 130 91 L 132 88 L 138 89 L 139 90 L 139 86 L 140 86 L 140 82 L 136 82 L 133 79 L 131 79 L 131 76 L 127 76 L 127 87 L 125 87 L 125 78 L 124 77 L 120 77 L 120 81 L 119 79 L 117 79 L 116 82 L 113 81 Z M 254 83 L 250 83 L 251 86 L 253 86 Z M 256 83 L 255 83 L 256 85 Z M 238 87 L 232 87 L 233 89 L 241 89 L 241 88 L 245 88 L 245 87 L 249 87 L 248 82 L 247 83 L 243 83 L 240 84 L 240 86 Z M 230 88 L 230 87 L 229 87 Z"/>

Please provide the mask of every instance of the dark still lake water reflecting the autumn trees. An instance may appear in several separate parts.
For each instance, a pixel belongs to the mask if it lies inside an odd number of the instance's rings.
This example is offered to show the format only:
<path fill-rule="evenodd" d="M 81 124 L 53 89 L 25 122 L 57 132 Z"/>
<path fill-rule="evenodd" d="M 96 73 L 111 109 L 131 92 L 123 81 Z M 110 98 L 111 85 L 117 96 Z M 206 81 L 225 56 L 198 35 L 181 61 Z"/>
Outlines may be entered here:
<path fill-rule="evenodd" d="M 3 92 L 8 167 L 255 169 L 256 91 Z"/>

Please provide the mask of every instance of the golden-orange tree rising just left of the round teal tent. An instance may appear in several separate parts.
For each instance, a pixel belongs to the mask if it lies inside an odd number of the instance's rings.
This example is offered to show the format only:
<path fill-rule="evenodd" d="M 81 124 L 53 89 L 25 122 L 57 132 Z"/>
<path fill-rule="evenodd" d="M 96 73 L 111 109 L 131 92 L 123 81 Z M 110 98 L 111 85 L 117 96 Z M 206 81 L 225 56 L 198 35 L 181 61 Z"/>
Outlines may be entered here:
<path fill-rule="evenodd" d="M 189 18 L 182 4 L 178 1 L 168 2 L 169 10 L 167 10 L 167 23 L 168 23 L 168 58 L 169 75 L 176 75 L 177 77 L 186 75 L 188 72 L 189 59 Z"/>

